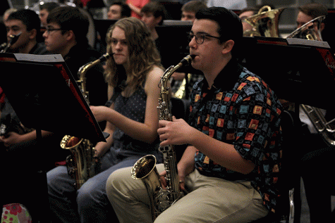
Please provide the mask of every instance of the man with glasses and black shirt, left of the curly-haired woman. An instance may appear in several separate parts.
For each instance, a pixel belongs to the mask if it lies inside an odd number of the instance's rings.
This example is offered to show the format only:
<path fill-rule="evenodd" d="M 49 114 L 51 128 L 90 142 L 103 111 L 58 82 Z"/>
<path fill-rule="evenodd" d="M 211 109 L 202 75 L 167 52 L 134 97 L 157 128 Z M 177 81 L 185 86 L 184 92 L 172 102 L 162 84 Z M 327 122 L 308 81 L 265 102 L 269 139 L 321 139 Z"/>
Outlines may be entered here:
<path fill-rule="evenodd" d="M 63 56 L 75 79 L 78 79 L 80 67 L 101 56 L 88 44 L 89 25 L 85 15 L 78 8 L 71 6 L 54 8 L 47 18 L 46 31 L 43 34 L 44 44 L 51 53 Z M 104 105 L 107 101 L 107 87 L 102 65 L 88 70 L 86 78 L 90 105 Z"/>

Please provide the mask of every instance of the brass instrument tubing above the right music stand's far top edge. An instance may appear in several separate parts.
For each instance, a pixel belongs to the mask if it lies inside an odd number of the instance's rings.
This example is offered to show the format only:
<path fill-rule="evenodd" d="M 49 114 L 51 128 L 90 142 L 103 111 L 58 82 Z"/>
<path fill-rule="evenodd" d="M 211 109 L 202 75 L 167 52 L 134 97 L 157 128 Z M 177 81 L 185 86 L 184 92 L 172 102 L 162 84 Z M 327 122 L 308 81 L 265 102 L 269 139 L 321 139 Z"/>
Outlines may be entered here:
<path fill-rule="evenodd" d="M 288 34 L 286 38 L 299 38 L 322 41 L 320 25 L 326 15 L 321 15 Z"/>

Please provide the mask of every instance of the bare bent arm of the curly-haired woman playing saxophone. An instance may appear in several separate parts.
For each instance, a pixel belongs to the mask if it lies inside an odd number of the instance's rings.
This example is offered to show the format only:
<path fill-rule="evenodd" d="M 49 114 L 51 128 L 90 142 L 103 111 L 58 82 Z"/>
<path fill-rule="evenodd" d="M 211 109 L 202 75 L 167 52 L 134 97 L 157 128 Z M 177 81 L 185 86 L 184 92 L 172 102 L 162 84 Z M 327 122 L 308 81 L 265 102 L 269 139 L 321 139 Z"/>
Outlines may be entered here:
<path fill-rule="evenodd" d="M 163 70 L 154 68 L 150 71 L 145 82 L 145 92 L 147 94 L 147 102 L 145 108 L 145 121 L 137 122 L 121 115 L 111 108 L 104 106 L 91 106 L 92 113 L 98 122 L 106 120 L 121 129 L 133 139 L 152 143 L 157 139 L 158 129 L 158 97 L 159 97 L 159 80 L 163 75 Z"/>

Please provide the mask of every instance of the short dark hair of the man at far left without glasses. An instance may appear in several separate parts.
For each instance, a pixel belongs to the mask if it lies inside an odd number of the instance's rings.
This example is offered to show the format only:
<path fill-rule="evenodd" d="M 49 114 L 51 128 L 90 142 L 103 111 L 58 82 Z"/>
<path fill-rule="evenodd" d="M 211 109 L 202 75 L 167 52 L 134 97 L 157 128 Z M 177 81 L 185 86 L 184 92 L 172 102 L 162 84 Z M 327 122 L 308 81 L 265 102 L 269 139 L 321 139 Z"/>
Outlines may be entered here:
<path fill-rule="evenodd" d="M 27 31 L 35 29 L 37 31 L 37 35 L 39 34 L 41 20 L 39 20 L 35 11 L 30 9 L 20 9 L 11 13 L 7 18 L 7 21 L 8 20 L 20 20 L 27 27 Z"/>

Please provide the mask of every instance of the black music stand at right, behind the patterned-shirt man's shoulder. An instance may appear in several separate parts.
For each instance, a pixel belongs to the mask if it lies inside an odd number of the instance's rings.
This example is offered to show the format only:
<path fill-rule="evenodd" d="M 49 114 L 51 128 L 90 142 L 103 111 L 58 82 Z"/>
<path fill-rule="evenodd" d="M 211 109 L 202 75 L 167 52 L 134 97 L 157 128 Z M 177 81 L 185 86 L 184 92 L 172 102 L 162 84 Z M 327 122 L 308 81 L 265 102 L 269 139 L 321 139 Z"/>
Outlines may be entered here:
<path fill-rule="evenodd" d="M 260 75 L 279 98 L 331 108 L 335 59 L 327 42 L 243 37 L 243 65 Z"/>

